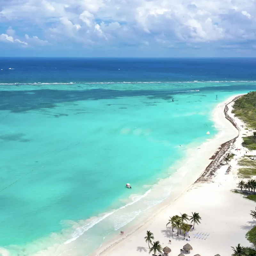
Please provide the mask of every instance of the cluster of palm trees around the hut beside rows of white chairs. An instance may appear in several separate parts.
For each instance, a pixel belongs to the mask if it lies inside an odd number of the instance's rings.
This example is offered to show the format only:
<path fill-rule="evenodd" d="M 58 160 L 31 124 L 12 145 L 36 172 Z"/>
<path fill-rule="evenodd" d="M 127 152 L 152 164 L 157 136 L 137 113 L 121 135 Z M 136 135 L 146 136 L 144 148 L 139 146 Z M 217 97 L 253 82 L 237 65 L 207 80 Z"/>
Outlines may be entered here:
<path fill-rule="evenodd" d="M 187 213 L 183 213 L 183 214 L 180 213 L 180 216 L 174 215 L 170 217 L 170 220 L 166 224 L 166 227 L 167 225 L 171 224 L 172 228 L 177 228 L 177 236 L 179 236 L 179 230 L 180 232 L 182 230 L 184 232 L 184 238 L 185 238 L 186 232 L 190 230 L 190 226 L 188 225 L 188 223 L 185 223 L 185 221 L 186 222 L 191 221 L 191 223 L 194 222 L 193 228 L 195 228 L 195 224 L 198 225 L 198 223 L 201 223 L 200 220 L 202 219 L 199 213 L 197 212 L 194 212 L 194 213 L 192 212 L 192 216 L 188 216 Z"/>

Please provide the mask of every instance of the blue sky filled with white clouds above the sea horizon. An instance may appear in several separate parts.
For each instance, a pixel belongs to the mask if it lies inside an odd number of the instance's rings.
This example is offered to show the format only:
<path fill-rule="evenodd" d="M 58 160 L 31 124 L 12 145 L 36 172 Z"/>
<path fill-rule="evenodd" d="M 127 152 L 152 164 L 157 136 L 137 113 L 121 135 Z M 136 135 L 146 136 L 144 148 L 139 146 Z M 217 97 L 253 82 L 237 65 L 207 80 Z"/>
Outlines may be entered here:
<path fill-rule="evenodd" d="M 256 57 L 256 4 L 0 0 L 0 56 Z"/>

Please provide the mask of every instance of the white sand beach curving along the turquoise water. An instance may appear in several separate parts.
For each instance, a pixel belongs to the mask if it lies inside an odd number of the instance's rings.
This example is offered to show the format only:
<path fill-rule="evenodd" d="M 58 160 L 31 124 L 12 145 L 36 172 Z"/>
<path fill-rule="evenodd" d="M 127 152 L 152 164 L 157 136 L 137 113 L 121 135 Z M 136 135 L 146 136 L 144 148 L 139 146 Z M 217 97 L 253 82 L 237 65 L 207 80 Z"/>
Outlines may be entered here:
<path fill-rule="evenodd" d="M 226 100 L 228 103 L 235 96 Z M 214 154 L 218 145 L 236 138 L 238 131 L 224 115 L 225 102 L 220 103 L 213 110 L 213 120 L 220 133 L 216 140 L 205 143 L 206 148 L 199 148 L 197 156 L 191 162 L 189 172 L 193 172 L 194 176 L 190 177 L 190 182 L 195 182 L 202 174 L 212 160 L 209 158 Z M 230 162 L 232 166 L 231 172 L 228 174 L 226 170 L 228 165 L 214 170 L 214 174 L 197 180 L 175 201 L 170 202 L 168 199 L 164 201 L 165 205 L 161 205 L 161 210 L 149 220 L 147 220 L 139 228 L 134 228 L 129 234 L 121 236 L 116 235 L 116 241 L 111 244 L 103 244 L 92 255 L 100 256 L 143 256 L 148 255 L 148 244 L 145 242 L 147 230 L 150 230 L 155 237 L 155 241 L 160 241 L 162 247 L 169 246 L 172 252 L 169 255 L 179 255 L 183 245 L 189 243 L 193 250 L 190 255 L 200 254 L 202 256 L 221 256 L 231 255 L 230 246 L 237 246 L 241 243 L 243 246 L 251 244 L 246 240 L 246 232 L 252 228 L 255 222 L 250 216 L 250 210 L 254 210 L 255 202 L 244 199 L 243 196 L 233 193 L 231 190 L 237 188 L 237 160 L 244 155 L 242 134 L 248 131 L 244 130 L 244 125 L 239 119 L 231 114 L 232 102 L 228 104 L 228 116 L 232 117 L 239 127 L 239 136 L 234 144 L 231 143 L 228 152 L 235 153 L 237 156 Z M 238 152 L 235 149 L 241 148 Z M 219 160 L 220 161 L 220 160 Z M 197 163 L 197 164 L 195 164 Z M 211 170 L 208 170 L 210 172 Z M 184 240 L 184 236 L 177 236 L 177 230 L 174 229 L 172 236 L 171 226 L 166 228 L 169 216 L 180 215 L 191 212 L 198 212 L 202 218 L 199 226 L 195 225 L 195 229 L 190 231 L 190 241 Z M 171 244 L 169 244 L 171 240 Z M 152 254 L 152 253 L 151 253 Z M 150 254 L 150 255 L 151 255 Z M 186 254 L 185 254 L 186 255 Z"/>

